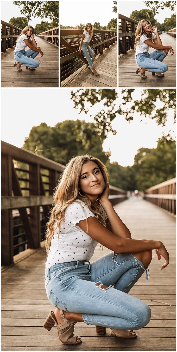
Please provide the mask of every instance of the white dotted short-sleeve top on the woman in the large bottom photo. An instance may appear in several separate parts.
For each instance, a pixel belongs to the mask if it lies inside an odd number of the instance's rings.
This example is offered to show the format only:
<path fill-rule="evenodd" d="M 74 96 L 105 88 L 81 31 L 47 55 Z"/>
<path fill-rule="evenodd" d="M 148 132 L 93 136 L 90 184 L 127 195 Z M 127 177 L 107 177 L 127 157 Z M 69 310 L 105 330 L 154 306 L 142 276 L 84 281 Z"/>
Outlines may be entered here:
<path fill-rule="evenodd" d="M 107 219 L 105 210 L 101 207 L 104 219 Z M 97 241 L 89 237 L 78 225 L 80 220 L 94 217 L 94 213 L 84 202 L 76 199 L 65 210 L 64 220 L 58 237 L 58 227 L 55 227 L 51 240 L 49 254 L 45 263 L 46 269 L 57 263 L 68 263 L 74 260 L 89 260 L 94 253 Z"/>

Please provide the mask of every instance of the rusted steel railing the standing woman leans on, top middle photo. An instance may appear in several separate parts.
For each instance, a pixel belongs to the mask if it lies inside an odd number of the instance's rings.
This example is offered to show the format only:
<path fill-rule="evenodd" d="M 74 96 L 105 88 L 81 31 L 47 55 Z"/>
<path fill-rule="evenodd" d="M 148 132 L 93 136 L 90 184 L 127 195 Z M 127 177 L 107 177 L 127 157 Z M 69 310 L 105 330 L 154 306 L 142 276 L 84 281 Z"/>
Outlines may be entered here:
<path fill-rule="evenodd" d="M 61 82 L 76 73 L 87 59 L 78 52 L 83 30 L 61 29 L 60 30 L 60 77 Z M 90 40 L 90 46 L 95 55 L 102 54 L 104 49 L 117 42 L 117 31 L 94 30 Z"/>

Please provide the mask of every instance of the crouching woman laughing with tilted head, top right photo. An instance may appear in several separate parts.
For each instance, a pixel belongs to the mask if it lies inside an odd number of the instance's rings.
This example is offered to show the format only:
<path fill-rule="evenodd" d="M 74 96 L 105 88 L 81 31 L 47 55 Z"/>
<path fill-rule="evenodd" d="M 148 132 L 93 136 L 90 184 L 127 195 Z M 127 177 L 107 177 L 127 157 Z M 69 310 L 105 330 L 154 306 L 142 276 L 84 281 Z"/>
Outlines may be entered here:
<path fill-rule="evenodd" d="M 148 52 L 149 48 L 156 50 Z M 169 50 L 173 55 L 171 46 L 162 45 L 157 27 L 152 26 L 148 20 L 141 20 L 137 25 L 135 32 L 135 61 L 139 66 L 135 73 L 140 73 L 141 78 L 147 78 L 145 71 L 155 73 L 159 77 L 164 77 L 163 72 L 166 72 L 168 66 L 163 63 L 163 59 L 167 56 Z"/>

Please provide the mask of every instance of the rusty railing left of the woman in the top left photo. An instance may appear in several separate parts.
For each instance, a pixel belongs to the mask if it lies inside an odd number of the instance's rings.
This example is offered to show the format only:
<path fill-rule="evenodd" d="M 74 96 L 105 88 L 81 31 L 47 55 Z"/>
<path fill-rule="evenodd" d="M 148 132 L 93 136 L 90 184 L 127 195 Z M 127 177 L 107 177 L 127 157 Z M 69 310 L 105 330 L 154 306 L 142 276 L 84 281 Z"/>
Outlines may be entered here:
<path fill-rule="evenodd" d="M 21 31 L 21 28 L 1 21 L 1 51 L 5 52 L 9 48 L 13 48 Z"/>

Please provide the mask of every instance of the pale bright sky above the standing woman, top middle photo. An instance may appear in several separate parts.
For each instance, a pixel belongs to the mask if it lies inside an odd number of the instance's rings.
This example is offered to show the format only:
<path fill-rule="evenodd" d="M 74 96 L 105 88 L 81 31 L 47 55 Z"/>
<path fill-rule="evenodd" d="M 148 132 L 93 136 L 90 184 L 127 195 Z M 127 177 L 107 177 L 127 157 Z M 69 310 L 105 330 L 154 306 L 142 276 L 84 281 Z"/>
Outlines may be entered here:
<path fill-rule="evenodd" d="M 59 23 L 62 26 L 76 27 L 81 22 L 100 22 L 101 26 L 106 26 L 112 18 L 117 17 L 117 14 L 112 12 L 113 6 L 112 0 L 60 0 Z"/>

